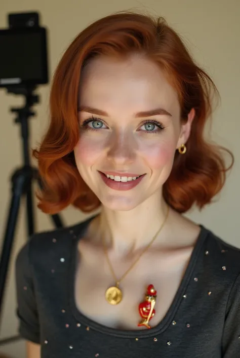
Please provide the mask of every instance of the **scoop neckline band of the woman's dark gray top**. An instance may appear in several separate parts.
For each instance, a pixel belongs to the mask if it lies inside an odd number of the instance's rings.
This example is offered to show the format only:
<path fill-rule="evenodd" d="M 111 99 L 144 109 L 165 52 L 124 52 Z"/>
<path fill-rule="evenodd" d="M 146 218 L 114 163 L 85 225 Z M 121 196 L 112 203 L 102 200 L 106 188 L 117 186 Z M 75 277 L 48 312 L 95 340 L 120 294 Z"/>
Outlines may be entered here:
<path fill-rule="evenodd" d="M 99 215 L 99 214 L 97 214 Z M 75 239 L 72 240 L 71 245 L 71 252 L 70 252 L 70 265 L 68 269 L 68 303 L 70 307 L 70 311 L 75 317 L 75 319 L 81 323 L 85 324 L 86 327 L 89 327 L 89 329 L 93 329 L 95 331 L 98 331 L 100 333 L 104 333 L 110 336 L 115 337 L 122 337 L 122 338 L 147 338 L 147 337 L 153 337 L 156 334 L 161 334 L 164 332 L 167 327 L 171 324 L 171 322 L 174 319 L 174 316 L 176 314 L 176 311 L 183 299 L 183 296 L 186 294 L 187 286 L 190 282 L 190 278 L 192 277 L 192 273 L 194 270 L 194 267 L 197 262 L 198 253 L 201 251 L 201 248 L 203 246 L 203 243 L 208 235 L 208 230 L 201 224 L 199 224 L 199 227 L 201 228 L 201 231 L 198 234 L 195 246 L 192 250 L 188 266 L 185 270 L 184 276 L 182 278 L 182 281 L 179 285 L 179 288 L 175 294 L 175 297 L 173 299 L 173 302 L 171 306 L 169 307 L 165 317 L 155 326 L 152 327 L 150 330 L 120 330 L 115 328 L 110 328 L 107 326 L 104 326 L 101 323 L 98 323 L 91 318 L 85 316 L 81 311 L 78 310 L 75 303 L 75 273 L 76 273 L 76 264 L 77 264 L 77 243 L 81 238 L 84 236 L 84 234 L 87 231 L 88 225 L 97 215 L 92 216 L 91 218 L 87 219 L 85 222 L 79 225 L 79 234 L 75 233 Z"/>

